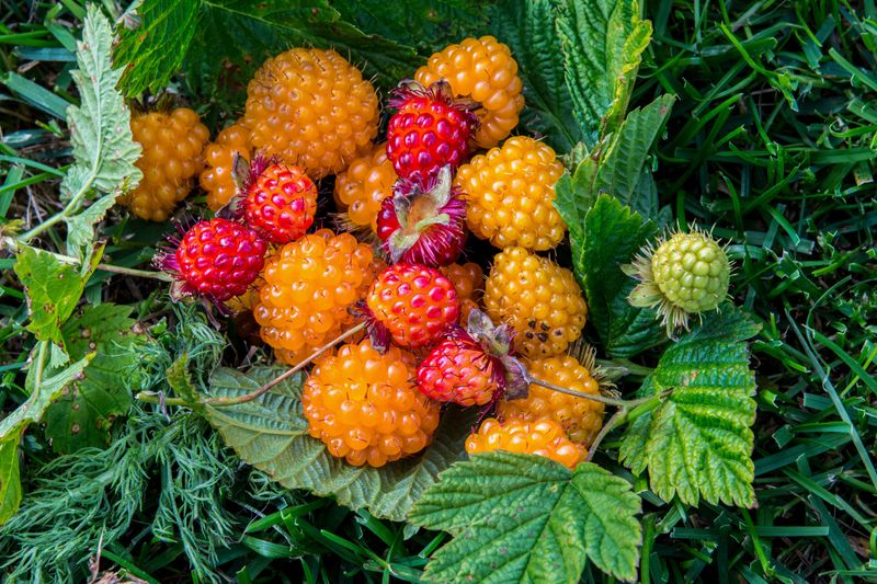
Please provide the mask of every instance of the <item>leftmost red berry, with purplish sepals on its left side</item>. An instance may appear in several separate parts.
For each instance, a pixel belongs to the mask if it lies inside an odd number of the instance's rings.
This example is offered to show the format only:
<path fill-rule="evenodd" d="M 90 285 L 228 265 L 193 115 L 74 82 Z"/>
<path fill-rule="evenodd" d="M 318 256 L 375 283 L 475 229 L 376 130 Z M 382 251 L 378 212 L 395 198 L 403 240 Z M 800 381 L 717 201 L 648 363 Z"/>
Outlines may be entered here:
<path fill-rule="evenodd" d="M 267 243 L 252 229 L 227 219 L 198 221 L 182 240 L 171 238 L 174 250 L 156 257 L 178 280 L 174 293 L 201 295 L 223 302 L 240 296 L 264 264 Z"/>

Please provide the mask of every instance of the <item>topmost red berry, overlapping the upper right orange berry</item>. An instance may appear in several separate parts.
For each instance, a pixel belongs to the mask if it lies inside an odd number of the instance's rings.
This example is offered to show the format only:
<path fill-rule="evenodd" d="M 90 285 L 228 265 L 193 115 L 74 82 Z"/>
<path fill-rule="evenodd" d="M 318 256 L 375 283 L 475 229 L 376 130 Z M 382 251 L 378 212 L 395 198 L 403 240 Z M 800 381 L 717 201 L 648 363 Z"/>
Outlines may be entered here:
<path fill-rule="evenodd" d="M 387 127 L 387 157 L 399 176 L 425 180 L 444 165 L 456 170 L 469 156 L 478 118 L 454 101 L 446 81 L 403 81 L 390 106 L 396 113 Z"/>

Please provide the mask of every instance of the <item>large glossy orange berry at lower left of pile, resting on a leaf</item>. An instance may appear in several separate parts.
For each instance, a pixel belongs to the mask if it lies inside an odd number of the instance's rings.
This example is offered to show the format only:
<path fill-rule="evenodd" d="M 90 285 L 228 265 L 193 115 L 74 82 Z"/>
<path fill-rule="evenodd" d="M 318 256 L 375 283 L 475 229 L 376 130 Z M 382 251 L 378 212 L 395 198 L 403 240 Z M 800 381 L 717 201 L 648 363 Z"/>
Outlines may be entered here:
<path fill-rule="evenodd" d="M 357 467 L 383 467 L 425 448 L 440 405 L 414 387 L 413 364 L 410 353 L 380 354 L 367 339 L 318 358 L 301 393 L 310 435 Z"/>

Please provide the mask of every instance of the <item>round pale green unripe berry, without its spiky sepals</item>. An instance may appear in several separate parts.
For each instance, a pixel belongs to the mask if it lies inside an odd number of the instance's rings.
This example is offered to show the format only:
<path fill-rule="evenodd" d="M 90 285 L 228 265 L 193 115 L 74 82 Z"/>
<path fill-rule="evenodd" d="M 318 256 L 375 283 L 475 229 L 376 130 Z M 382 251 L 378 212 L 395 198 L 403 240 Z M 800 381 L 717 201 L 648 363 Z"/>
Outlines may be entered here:
<path fill-rule="evenodd" d="M 731 270 L 725 250 L 701 231 L 676 233 L 652 255 L 654 283 L 685 312 L 714 310 L 728 294 Z"/>

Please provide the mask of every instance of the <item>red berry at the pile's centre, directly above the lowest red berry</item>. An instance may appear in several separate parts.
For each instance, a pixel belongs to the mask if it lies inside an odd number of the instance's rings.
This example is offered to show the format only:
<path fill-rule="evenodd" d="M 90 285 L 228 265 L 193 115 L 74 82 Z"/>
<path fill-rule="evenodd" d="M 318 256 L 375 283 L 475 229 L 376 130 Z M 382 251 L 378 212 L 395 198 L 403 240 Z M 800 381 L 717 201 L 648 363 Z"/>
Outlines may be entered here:
<path fill-rule="evenodd" d="M 379 347 L 390 339 L 408 348 L 432 345 L 459 318 L 454 285 L 424 265 L 396 264 L 381 272 L 368 290 L 366 306 Z"/>

